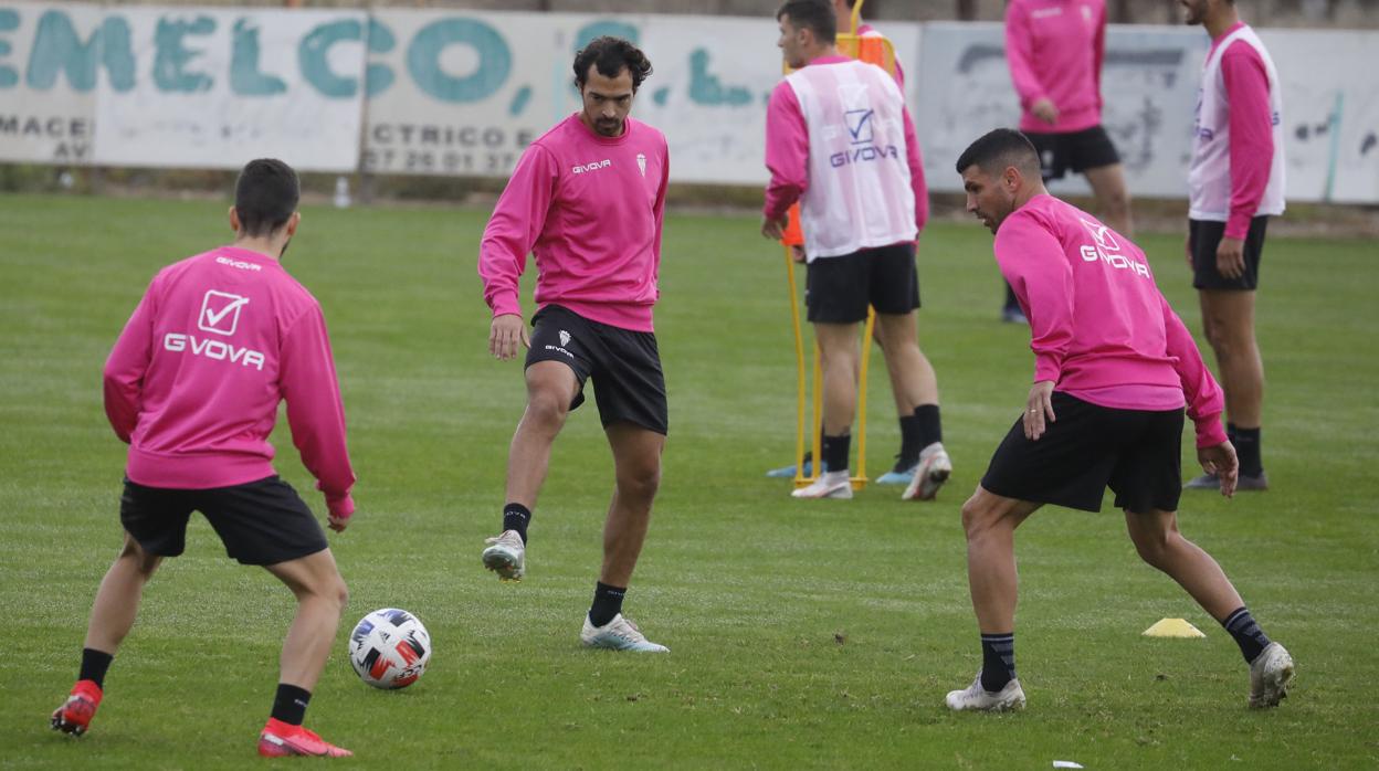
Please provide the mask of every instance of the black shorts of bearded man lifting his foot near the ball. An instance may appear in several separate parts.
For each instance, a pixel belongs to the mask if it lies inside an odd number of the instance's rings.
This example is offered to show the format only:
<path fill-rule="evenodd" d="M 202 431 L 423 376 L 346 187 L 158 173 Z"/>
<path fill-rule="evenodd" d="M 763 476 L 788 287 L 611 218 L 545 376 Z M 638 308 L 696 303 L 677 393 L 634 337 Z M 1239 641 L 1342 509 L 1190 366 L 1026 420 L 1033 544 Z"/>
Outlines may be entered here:
<path fill-rule="evenodd" d="M 656 335 L 600 324 L 558 305 L 542 308 L 531 323 L 527 367 L 568 364 L 579 379 L 571 410 L 585 403 L 585 381 L 593 378 L 604 428 L 627 421 L 665 436 L 670 417 Z"/>

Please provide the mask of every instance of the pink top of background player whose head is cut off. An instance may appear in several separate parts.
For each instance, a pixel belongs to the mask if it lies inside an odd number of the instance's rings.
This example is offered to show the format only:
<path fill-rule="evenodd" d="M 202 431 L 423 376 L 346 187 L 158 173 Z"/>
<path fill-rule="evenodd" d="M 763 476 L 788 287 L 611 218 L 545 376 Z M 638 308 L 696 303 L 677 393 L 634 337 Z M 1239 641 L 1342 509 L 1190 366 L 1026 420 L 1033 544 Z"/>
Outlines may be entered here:
<path fill-rule="evenodd" d="M 1020 131 L 1066 134 L 1102 123 L 1105 0 L 1011 0 L 1005 8 L 1005 61 L 1020 97 Z M 1030 106 L 1048 98 L 1058 121 Z"/>

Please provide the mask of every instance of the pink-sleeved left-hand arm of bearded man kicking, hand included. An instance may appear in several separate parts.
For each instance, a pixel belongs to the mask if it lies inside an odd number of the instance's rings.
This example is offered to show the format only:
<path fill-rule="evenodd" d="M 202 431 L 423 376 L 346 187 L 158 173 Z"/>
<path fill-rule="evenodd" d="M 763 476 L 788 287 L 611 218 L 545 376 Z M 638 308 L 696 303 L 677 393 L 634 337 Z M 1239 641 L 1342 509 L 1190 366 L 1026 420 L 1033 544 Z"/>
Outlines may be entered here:
<path fill-rule="evenodd" d="M 494 314 L 488 352 L 498 359 L 513 359 L 519 346 L 531 345 L 517 297 L 519 281 L 527 269 L 527 255 L 546 225 L 558 178 L 550 150 L 541 145 L 527 148 L 484 228 L 479 276 L 484 281 L 484 302 Z"/>

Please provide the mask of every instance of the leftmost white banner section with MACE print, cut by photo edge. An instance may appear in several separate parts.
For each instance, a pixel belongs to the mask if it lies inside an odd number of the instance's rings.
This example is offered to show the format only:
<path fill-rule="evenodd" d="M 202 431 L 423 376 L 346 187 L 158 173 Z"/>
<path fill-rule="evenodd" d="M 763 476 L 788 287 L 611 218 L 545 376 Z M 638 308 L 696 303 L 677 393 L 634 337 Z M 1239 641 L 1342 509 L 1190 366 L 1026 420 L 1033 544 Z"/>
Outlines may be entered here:
<path fill-rule="evenodd" d="M 101 22 L 99 6 L 0 6 L 0 160 L 91 163 L 97 84 L 134 77 Z"/>

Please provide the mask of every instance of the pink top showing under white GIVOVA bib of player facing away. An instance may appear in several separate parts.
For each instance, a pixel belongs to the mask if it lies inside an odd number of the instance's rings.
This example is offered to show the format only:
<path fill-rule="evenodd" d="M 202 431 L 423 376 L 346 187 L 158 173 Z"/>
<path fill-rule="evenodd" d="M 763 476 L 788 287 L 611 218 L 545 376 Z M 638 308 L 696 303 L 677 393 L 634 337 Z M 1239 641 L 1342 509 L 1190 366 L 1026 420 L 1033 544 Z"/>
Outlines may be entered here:
<path fill-rule="evenodd" d="M 805 66 L 834 65 L 852 59 L 819 57 Z M 914 225 L 920 230 L 929 218 L 929 190 L 924 183 L 924 161 L 920 159 L 920 139 L 914 134 L 914 121 L 909 108 L 902 103 L 905 114 L 905 157 L 910 167 L 910 188 L 914 190 Z M 771 91 L 767 102 L 767 168 L 771 182 L 767 183 L 763 214 L 776 219 L 783 217 L 790 204 L 809 188 L 809 127 L 790 84 L 782 80 Z"/>

